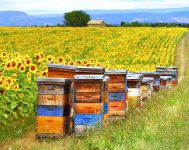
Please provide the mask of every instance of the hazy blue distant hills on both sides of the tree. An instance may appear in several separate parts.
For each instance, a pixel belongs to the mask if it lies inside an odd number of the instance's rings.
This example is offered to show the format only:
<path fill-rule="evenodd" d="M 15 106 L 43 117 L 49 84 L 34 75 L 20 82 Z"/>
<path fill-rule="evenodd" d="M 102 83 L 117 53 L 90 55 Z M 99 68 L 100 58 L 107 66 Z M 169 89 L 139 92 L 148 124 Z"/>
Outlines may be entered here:
<path fill-rule="evenodd" d="M 85 11 L 92 19 L 103 19 L 114 25 L 119 25 L 122 21 L 189 23 L 189 8 Z M 28 15 L 19 11 L 0 11 L 0 26 L 44 26 L 62 23 L 63 14 Z"/>

